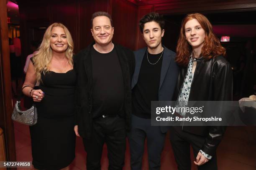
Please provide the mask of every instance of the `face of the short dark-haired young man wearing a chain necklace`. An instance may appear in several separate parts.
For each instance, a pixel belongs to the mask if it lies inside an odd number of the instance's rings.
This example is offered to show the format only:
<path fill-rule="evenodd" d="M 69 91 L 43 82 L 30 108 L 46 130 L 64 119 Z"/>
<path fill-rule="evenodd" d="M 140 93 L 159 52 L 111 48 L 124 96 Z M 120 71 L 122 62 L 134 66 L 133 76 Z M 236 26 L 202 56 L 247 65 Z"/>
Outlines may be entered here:
<path fill-rule="evenodd" d="M 164 30 L 161 30 L 158 23 L 151 21 L 144 24 L 142 36 L 147 46 L 151 49 L 155 49 L 156 47 L 159 47 L 159 45 L 161 46 Z"/>

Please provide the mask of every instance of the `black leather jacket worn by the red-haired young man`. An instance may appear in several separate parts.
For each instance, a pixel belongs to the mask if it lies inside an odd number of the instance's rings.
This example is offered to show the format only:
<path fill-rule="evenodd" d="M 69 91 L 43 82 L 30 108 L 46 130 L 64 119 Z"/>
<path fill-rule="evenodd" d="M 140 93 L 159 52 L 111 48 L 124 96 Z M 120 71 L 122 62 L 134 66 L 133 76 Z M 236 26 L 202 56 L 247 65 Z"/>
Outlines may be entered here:
<path fill-rule="evenodd" d="M 230 64 L 223 56 L 210 60 L 203 57 L 197 60 L 197 66 L 189 93 L 189 101 L 232 101 L 233 74 Z M 179 72 L 174 100 L 177 100 L 179 91 L 187 74 L 187 67 Z M 204 136 L 205 143 L 202 151 L 214 155 L 225 133 L 225 126 L 183 126 L 182 130 Z"/>

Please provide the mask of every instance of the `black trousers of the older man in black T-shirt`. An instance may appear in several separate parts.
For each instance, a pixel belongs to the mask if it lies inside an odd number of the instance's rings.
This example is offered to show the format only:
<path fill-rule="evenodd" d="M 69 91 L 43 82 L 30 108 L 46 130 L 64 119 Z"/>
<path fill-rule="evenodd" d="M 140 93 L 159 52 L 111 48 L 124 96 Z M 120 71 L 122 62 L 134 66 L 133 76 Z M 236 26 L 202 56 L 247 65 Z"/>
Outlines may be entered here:
<path fill-rule="evenodd" d="M 102 147 L 108 147 L 109 170 L 122 170 L 126 148 L 125 119 L 116 117 L 99 117 L 92 122 L 90 140 L 83 138 L 87 152 L 87 170 L 100 170 Z"/>

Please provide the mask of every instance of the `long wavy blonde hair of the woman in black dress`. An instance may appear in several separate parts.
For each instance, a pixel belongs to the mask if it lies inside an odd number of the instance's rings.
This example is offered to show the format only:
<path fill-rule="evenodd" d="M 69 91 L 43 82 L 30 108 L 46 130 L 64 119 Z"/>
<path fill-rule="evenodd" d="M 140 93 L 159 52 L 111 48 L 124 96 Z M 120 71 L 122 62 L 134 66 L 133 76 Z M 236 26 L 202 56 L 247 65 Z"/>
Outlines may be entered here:
<path fill-rule="evenodd" d="M 33 64 L 36 72 L 36 81 L 41 82 L 41 73 L 43 72 L 44 74 L 46 72 L 49 72 L 50 70 L 50 62 L 52 59 L 52 50 L 51 50 L 51 45 L 50 45 L 50 38 L 51 38 L 51 30 L 54 27 L 60 27 L 64 29 L 64 32 L 67 36 L 67 42 L 68 42 L 68 47 L 65 52 L 65 56 L 69 60 L 69 64 L 73 66 L 73 50 L 74 50 L 74 42 L 72 40 L 72 36 L 63 24 L 61 23 L 53 23 L 50 25 L 45 33 L 44 33 L 44 38 L 42 40 L 42 43 L 40 47 L 38 48 L 38 52 L 34 55 L 33 57 Z"/>

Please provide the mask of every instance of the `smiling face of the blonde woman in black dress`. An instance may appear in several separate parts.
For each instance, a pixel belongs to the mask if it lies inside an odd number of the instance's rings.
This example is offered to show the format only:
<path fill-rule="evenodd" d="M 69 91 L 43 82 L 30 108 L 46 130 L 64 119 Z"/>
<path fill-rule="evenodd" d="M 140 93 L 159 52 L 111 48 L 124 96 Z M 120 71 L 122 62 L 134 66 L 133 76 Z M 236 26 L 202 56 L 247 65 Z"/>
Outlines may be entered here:
<path fill-rule="evenodd" d="M 50 45 L 51 45 L 51 49 L 54 52 L 62 53 L 67 50 L 67 47 L 68 47 L 67 35 L 63 28 L 61 27 L 52 28 Z"/>

